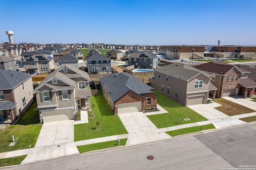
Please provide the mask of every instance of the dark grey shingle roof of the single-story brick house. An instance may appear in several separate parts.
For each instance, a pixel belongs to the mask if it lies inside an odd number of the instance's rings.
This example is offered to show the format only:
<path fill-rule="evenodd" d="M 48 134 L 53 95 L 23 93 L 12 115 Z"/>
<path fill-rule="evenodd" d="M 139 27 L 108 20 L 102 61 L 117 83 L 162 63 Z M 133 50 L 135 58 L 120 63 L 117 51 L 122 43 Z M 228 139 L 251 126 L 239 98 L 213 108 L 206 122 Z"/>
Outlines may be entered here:
<path fill-rule="evenodd" d="M 125 95 L 128 91 L 134 91 L 138 95 L 153 93 L 153 87 L 136 79 L 127 72 L 119 74 L 110 74 L 106 77 L 100 78 L 100 83 L 108 92 L 109 97 L 113 102 L 117 101 Z"/>

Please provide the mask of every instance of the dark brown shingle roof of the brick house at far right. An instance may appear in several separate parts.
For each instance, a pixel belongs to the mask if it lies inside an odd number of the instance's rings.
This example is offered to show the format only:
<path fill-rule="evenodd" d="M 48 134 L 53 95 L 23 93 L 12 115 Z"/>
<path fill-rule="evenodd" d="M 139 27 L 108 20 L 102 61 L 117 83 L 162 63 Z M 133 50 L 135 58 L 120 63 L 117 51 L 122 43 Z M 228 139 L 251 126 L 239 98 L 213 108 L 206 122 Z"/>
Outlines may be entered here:
<path fill-rule="evenodd" d="M 224 61 L 211 61 L 209 63 L 203 63 L 200 65 L 194 66 L 197 69 L 200 69 L 202 71 L 215 73 L 215 74 L 221 74 L 226 75 L 231 69 L 233 69 L 235 66 L 225 63 Z M 242 68 L 236 67 L 241 73 L 245 73 L 246 70 Z"/>

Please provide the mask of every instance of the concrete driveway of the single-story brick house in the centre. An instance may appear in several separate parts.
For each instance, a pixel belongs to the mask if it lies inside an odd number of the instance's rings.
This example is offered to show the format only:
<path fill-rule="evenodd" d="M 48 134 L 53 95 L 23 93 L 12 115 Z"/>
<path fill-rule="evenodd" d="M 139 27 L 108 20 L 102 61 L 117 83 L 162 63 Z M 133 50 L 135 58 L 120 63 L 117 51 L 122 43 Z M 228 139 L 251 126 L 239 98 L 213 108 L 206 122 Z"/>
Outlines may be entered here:
<path fill-rule="evenodd" d="M 172 138 L 158 129 L 143 112 L 124 113 L 118 117 L 128 132 L 128 146 Z"/>

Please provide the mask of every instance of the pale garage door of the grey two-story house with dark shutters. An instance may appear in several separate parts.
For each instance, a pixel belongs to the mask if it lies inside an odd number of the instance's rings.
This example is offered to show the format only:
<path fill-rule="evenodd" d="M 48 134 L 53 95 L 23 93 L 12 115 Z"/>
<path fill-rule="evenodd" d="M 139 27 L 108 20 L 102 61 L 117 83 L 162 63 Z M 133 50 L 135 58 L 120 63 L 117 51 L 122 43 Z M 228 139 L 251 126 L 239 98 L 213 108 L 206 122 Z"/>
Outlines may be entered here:
<path fill-rule="evenodd" d="M 42 111 L 44 123 L 54 121 L 66 121 L 74 119 L 73 109 L 62 109 L 54 111 Z"/>

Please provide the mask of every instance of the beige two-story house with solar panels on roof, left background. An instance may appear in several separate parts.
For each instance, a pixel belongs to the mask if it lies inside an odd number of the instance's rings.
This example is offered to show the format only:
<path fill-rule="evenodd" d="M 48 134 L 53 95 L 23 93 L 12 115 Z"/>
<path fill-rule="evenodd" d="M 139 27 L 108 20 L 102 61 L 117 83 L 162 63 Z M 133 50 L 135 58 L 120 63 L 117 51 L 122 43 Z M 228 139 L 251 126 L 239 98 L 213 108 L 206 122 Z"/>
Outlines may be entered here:
<path fill-rule="evenodd" d="M 23 61 L 24 69 L 31 74 L 48 73 L 54 69 L 53 57 L 48 55 L 32 55 Z"/>

